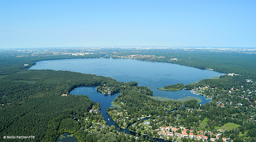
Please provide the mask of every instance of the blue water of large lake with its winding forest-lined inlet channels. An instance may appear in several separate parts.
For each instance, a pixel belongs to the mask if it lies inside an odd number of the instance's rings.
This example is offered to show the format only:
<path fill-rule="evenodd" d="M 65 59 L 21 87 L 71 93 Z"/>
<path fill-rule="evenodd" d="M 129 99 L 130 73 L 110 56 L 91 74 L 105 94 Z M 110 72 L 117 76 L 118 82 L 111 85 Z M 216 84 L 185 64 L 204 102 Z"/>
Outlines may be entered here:
<path fill-rule="evenodd" d="M 102 75 L 123 82 L 136 81 L 138 85 L 151 87 L 154 97 L 157 96 L 179 99 L 182 97 L 193 96 L 202 99 L 201 104 L 207 103 L 210 100 L 207 100 L 206 97 L 192 94 L 190 91 L 184 89 L 181 91 L 160 91 L 157 88 L 177 83 L 187 85 L 194 83 L 194 81 L 200 81 L 201 79 L 208 79 L 224 75 L 223 73 L 218 73 L 211 70 L 201 70 L 170 63 L 111 58 L 39 61 L 30 69 L 67 70 Z M 88 95 L 93 101 L 99 102 L 101 104 L 101 113 L 104 120 L 109 126 L 114 125 L 116 128 L 118 128 L 114 120 L 112 120 L 107 114 L 106 108 L 111 107 L 111 102 L 118 96 L 119 93 L 104 95 L 103 93 L 97 91 L 95 86 L 92 86 L 76 87 L 70 91 L 70 94 Z M 120 131 L 125 131 L 126 133 L 134 136 L 136 135 L 136 133 L 130 132 L 127 128 L 120 129 Z M 157 139 L 154 141 L 162 142 L 163 140 Z"/>

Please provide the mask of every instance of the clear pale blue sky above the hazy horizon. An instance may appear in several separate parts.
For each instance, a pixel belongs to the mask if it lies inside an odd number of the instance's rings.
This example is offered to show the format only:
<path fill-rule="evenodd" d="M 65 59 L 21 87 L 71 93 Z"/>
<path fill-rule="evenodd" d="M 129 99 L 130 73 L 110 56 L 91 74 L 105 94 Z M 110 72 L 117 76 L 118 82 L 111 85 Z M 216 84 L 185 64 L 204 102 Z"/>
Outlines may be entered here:
<path fill-rule="evenodd" d="M 0 49 L 256 47 L 256 0 L 0 0 Z"/>

